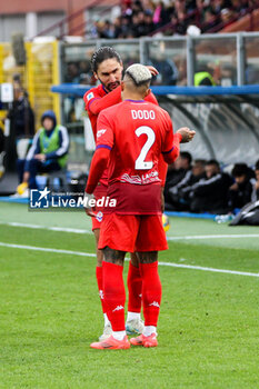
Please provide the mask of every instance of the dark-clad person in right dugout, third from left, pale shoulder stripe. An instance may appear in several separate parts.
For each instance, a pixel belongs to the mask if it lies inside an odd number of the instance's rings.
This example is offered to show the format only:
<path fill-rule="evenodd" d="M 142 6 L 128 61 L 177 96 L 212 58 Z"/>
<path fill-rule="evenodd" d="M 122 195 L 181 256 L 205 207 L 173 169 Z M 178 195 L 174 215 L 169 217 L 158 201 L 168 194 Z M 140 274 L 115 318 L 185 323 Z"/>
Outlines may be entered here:
<path fill-rule="evenodd" d="M 206 179 L 199 180 L 190 190 L 192 212 L 227 213 L 228 191 L 232 183 L 229 174 L 221 172 L 219 162 L 206 162 Z"/>

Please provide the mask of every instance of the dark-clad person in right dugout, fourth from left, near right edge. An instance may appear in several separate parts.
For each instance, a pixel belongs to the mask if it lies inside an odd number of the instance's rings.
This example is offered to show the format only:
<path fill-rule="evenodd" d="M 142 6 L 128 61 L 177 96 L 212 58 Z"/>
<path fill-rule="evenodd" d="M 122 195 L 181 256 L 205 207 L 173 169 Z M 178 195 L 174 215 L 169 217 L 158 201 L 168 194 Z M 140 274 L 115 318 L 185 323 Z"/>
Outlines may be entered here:
<path fill-rule="evenodd" d="M 236 163 L 231 174 L 235 183 L 229 188 L 229 207 L 230 210 L 241 209 L 251 201 L 255 173 L 247 163 Z"/>

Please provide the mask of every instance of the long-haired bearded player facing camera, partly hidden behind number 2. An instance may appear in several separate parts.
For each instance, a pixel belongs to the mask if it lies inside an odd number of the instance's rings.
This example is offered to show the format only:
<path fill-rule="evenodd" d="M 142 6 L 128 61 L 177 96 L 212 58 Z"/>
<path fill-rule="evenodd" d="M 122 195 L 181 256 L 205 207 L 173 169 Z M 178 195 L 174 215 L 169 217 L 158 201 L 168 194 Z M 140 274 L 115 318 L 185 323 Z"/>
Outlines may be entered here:
<path fill-rule="evenodd" d="M 121 102 L 121 79 L 122 79 L 122 61 L 118 52 L 110 47 L 101 47 L 98 49 L 91 59 L 92 71 L 96 79 L 100 80 L 100 84 L 90 89 L 83 97 L 86 102 L 86 110 L 88 111 L 91 127 L 97 141 L 97 119 L 99 113 L 118 102 Z M 153 74 L 157 71 L 152 67 L 148 67 Z M 148 93 L 147 101 L 158 104 L 157 99 L 152 93 Z M 165 163 L 161 163 L 161 176 L 166 177 Z M 98 186 L 94 190 L 94 198 L 100 199 L 107 193 L 108 177 L 107 170 L 100 177 Z M 98 247 L 100 226 L 102 221 L 102 208 L 96 208 L 94 216 L 92 217 L 92 231 L 96 237 L 96 245 Z M 111 335 L 111 327 L 106 313 L 106 306 L 103 301 L 102 291 L 102 252 L 97 248 L 97 268 L 96 268 L 97 283 L 99 295 L 102 305 L 102 311 L 104 316 L 104 329 L 100 339 L 104 339 Z M 129 265 L 128 273 L 128 289 L 129 289 L 129 303 L 128 303 L 128 320 L 127 330 L 128 333 L 140 333 L 143 329 L 142 320 L 140 319 L 141 311 L 141 289 L 142 281 L 139 272 L 138 260 L 136 256 L 131 255 L 131 261 Z"/>

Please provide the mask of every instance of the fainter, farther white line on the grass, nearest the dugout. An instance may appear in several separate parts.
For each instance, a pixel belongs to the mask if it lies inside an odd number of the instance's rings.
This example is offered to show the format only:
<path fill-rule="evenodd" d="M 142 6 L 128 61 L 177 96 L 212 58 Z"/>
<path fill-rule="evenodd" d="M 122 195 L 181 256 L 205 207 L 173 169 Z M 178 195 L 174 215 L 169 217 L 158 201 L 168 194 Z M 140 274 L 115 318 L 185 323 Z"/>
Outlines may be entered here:
<path fill-rule="evenodd" d="M 77 229 L 77 228 L 63 228 L 63 227 L 46 227 L 46 226 L 39 226 L 39 225 L 27 225 L 27 223 L 20 223 L 20 222 L 8 222 L 2 223 L 7 226 L 12 227 L 26 227 L 26 228 L 32 228 L 32 229 L 44 229 L 50 231 L 59 231 L 59 232 L 72 232 L 72 233 L 92 233 L 90 230 L 84 229 Z M 187 236 L 187 237 L 168 237 L 168 240 L 196 240 L 196 239 L 231 239 L 231 238 L 259 238 L 259 233 L 238 233 L 238 235 L 193 235 L 193 236 Z"/>

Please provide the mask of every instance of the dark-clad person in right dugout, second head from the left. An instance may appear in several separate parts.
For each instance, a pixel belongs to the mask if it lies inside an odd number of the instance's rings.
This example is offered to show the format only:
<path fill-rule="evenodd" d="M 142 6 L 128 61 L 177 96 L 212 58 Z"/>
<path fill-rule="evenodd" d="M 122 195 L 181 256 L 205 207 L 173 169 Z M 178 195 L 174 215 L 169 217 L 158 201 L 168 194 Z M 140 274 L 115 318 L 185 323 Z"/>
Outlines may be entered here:
<path fill-rule="evenodd" d="M 196 182 L 199 182 L 201 179 L 206 179 L 205 166 L 206 161 L 203 159 L 195 160 L 191 170 L 187 171 L 183 179 L 175 187 L 169 189 L 169 194 L 171 198 L 170 206 L 176 211 L 190 210 L 190 192 Z"/>

